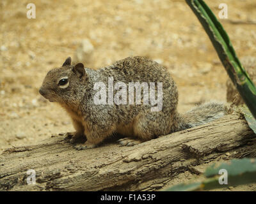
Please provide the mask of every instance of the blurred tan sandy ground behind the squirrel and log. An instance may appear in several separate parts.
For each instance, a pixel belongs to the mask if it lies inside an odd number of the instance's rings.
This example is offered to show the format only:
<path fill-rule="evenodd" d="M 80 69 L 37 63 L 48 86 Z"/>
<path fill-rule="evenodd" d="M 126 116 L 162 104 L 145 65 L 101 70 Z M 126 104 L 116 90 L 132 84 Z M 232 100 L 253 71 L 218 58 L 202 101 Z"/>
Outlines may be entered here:
<path fill-rule="evenodd" d="M 220 20 L 237 55 L 255 55 L 256 25 L 246 22 L 256 20 L 256 3 L 205 2 L 215 15 L 218 5 L 227 3 L 228 20 L 242 22 Z M 83 60 L 90 68 L 129 55 L 166 66 L 177 82 L 180 112 L 200 101 L 226 100 L 227 73 L 182 0 L 35 0 L 36 19 L 26 17 L 28 3 L 0 2 L 0 151 L 74 130 L 67 114 L 45 101 L 38 88 L 49 69 L 61 66 L 68 56 L 76 58 L 84 39 L 93 46 Z"/>

